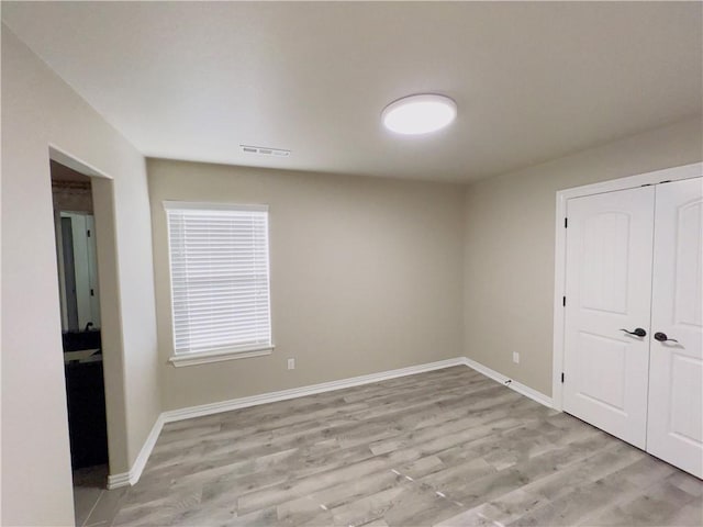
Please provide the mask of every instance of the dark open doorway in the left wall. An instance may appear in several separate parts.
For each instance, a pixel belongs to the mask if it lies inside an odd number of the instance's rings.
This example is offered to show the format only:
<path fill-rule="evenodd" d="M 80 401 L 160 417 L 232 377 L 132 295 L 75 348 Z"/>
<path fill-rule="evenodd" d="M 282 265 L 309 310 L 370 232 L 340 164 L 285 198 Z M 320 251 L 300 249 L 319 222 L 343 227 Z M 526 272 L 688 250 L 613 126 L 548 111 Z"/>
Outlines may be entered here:
<path fill-rule="evenodd" d="M 49 160 L 76 518 L 105 487 L 108 428 L 91 178 Z"/>

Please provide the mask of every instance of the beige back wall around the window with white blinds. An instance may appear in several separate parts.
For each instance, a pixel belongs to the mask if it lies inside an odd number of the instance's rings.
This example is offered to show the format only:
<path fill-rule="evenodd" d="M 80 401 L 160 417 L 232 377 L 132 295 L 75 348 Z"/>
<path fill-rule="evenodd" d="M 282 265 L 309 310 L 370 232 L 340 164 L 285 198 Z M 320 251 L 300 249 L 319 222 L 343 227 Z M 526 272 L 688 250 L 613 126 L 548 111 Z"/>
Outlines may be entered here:
<path fill-rule="evenodd" d="M 149 159 L 164 406 L 461 356 L 464 189 Z M 270 206 L 267 357 L 174 368 L 164 200 Z M 295 370 L 286 369 L 294 357 Z"/>

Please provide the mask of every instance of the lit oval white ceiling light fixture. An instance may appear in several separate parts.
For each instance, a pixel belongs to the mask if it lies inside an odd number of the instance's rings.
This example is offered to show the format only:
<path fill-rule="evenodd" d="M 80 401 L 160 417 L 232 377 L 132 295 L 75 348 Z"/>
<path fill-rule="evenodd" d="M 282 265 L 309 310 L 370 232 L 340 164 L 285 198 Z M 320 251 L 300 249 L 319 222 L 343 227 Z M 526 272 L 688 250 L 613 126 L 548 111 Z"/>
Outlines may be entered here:
<path fill-rule="evenodd" d="M 403 97 L 383 109 L 383 126 L 404 135 L 436 132 L 457 116 L 457 103 L 445 96 L 422 93 Z"/>

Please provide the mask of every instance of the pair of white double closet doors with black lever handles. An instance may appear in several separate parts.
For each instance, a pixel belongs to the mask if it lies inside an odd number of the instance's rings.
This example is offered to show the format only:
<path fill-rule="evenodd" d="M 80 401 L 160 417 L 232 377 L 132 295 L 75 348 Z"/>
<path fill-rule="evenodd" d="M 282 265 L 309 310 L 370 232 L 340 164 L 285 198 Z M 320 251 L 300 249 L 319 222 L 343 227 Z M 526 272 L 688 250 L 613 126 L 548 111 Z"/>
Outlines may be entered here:
<path fill-rule="evenodd" d="M 702 179 L 566 216 L 563 411 L 703 478 Z"/>

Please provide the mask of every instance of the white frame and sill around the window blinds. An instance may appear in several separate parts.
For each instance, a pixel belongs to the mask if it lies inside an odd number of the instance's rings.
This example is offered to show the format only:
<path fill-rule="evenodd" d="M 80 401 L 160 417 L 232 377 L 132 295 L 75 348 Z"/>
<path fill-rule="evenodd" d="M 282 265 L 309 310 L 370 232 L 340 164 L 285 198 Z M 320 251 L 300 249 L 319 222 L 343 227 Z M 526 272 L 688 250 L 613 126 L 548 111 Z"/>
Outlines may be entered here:
<path fill-rule="evenodd" d="M 274 345 L 272 306 L 271 306 L 271 272 L 270 272 L 270 226 L 269 208 L 266 204 L 235 204 L 235 203 L 211 203 L 190 201 L 164 201 L 164 213 L 166 216 L 166 243 L 168 254 L 168 287 L 169 287 L 169 310 L 170 310 L 170 332 L 171 350 L 168 361 L 175 367 L 203 365 L 209 362 L 220 362 L 223 360 L 244 359 L 249 357 L 261 357 L 271 355 L 276 346 Z M 174 306 L 174 266 L 171 254 L 171 222 L 170 211 L 203 211 L 203 212 L 265 212 L 266 213 L 266 273 L 268 284 L 268 343 L 264 345 L 252 345 L 249 347 L 213 349 L 191 352 L 176 352 L 176 315 Z"/>

